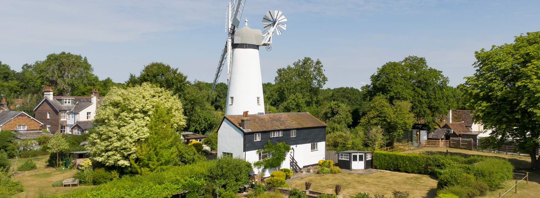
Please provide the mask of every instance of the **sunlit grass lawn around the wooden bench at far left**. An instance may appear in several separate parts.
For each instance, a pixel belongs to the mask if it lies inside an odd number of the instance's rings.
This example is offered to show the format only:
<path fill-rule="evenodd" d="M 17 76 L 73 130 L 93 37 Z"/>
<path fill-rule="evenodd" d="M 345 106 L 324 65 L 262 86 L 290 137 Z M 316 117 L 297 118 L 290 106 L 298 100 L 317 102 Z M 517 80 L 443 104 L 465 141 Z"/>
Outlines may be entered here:
<path fill-rule="evenodd" d="M 38 197 L 39 195 L 59 195 L 80 188 L 89 188 L 90 186 L 79 187 L 52 187 L 52 183 L 58 180 L 73 178 L 77 170 L 56 170 L 45 166 L 45 161 L 49 155 L 37 156 L 32 158 L 37 165 L 37 173 L 20 174 L 13 177 L 14 180 L 21 181 L 24 186 L 24 192 L 13 197 Z M 10 159 L 13 170 L 22 165 L 26 159 Z"/>

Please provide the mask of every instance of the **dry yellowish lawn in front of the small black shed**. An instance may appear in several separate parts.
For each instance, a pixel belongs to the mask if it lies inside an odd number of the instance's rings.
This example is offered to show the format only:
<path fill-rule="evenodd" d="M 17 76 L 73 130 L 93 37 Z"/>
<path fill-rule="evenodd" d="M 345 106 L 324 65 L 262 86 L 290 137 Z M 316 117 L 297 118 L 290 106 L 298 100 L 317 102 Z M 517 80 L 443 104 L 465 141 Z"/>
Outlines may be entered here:
<path fill-rule="evenodd" d="M 343 197 L 360 192 L 371 195 L 392 195 L 394 190 L 407 191 L 411 197 L 435 197 L 437 180 L 429 175 L 381 171 L 359 175 L 351 173 L 311 175 L 289 182 L 289 188 L 305 189 L 304 183 L 311 181 L 311 188 L 318 192 L 334 193 L 334 186 L 341 185 Z"/>

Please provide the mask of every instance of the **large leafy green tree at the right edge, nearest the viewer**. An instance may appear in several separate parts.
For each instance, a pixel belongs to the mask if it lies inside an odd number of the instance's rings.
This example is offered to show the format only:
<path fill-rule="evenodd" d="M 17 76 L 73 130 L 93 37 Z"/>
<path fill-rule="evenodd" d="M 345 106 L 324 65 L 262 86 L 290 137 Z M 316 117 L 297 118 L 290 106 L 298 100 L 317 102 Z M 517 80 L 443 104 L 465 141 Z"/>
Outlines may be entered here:
<path fill-rule="evenodd" d="M 529 153 L 531 168 L 540 169 L 535 154 L 540 142 L 540 32 L 481 49 L 475 57 L 476 73 L 458 86 L 470 97 L 474 120 L 492 129 L 492 146 L 512 139 L 519 151 Z"/>

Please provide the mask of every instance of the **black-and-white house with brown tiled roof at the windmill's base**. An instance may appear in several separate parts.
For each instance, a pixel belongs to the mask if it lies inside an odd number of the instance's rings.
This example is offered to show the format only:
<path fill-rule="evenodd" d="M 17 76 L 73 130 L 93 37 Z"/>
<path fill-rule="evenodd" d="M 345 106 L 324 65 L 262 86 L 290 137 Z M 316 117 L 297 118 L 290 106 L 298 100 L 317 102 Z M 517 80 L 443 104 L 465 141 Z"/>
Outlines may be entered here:
<path fill-rule="evenodd" d="M 291 146 L 284 153 L 281 168 L 297 170 L 317 165 L 325 159 L 326 124 L 307 112 L 225 115 L 218 128 L 218 155 L 255 162 L 268 158 L 257 150 L 268 144 L 285 142 Z M 255 173 L 261 169 L 254 168 Z M 269 175 L 273 170 L 265 170 Z"/>

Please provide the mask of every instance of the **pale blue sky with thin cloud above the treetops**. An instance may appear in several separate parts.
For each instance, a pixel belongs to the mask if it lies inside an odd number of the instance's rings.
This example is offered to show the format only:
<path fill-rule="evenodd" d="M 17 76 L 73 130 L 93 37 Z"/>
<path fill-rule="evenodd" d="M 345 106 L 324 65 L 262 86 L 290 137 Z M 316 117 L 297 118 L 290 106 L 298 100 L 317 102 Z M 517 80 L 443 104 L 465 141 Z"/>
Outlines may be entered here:
<path fill-rule="evenodd" d="M 227 4 L 0 0 L 0 60 L 19 71 L 66 51 L 86 56 L 100 79 L 123 82 L 150 62 L 164 62 L 189 80 L 212 81 Z M 540 1 L 247 0 L 244 18 L 259 29 L 268 10 L 288 19 L 272 51 L 261 47 L 264 82 L 273 82 L 278 68 L 312 57 L 324 65 L 325 87 L 360 88 L 377 67 L 415 55 L 455 86 L 474 74 L 475 51 L 540 31 L 538 8 Z"/>

